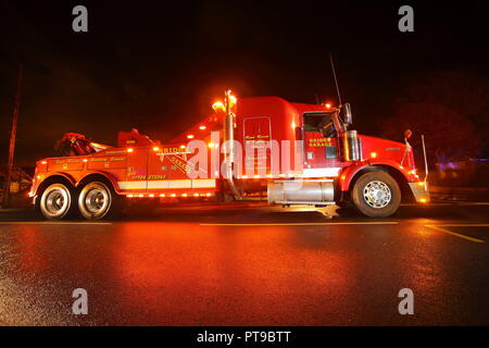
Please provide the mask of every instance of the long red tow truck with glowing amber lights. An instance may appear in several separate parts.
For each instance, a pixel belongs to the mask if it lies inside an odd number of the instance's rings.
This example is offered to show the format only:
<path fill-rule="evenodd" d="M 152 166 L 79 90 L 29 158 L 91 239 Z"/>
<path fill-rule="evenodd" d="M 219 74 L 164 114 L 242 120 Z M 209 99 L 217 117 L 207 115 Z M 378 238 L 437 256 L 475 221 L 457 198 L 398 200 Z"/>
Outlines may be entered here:
<path fill-rule="evenodd" d="M 353 206 L 371 217 L 429 201 L 408 142 L 358 134 L 350 104 L 237 99 L 167 144 L 120 132 L 117 146 L 66 134 L 58 158 L 36 163 L 29 196 L 46 219 L 106 219 L 128 200 L 246 200 Z M 425 156 L 426 163 L 426 156 Z"/>

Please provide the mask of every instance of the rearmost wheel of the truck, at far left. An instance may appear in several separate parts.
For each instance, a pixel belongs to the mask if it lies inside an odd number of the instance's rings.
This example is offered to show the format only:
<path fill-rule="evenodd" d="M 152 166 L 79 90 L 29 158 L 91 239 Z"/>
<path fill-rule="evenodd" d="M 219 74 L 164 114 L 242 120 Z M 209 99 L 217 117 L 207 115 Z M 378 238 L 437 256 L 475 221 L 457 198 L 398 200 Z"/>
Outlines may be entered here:
<path fill-rule="evenodd" d="M 39 198 L 39 212 L 48 220 L 62 220 L 76 213 L 76 190 L 65 184 L 48 186 Z"/>

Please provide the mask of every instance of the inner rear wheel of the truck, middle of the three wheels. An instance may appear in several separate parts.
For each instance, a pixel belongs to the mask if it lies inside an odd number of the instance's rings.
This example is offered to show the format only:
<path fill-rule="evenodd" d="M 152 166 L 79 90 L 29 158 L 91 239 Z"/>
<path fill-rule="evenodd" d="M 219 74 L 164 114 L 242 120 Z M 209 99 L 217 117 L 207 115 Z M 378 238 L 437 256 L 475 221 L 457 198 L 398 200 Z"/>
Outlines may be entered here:
<path fill-rule="evenodd" d="M 115 217 L 121 211 L 121 198 L 108 184 L 91 182 L 79 192 L 78 210 L 87 220 Z"/>

